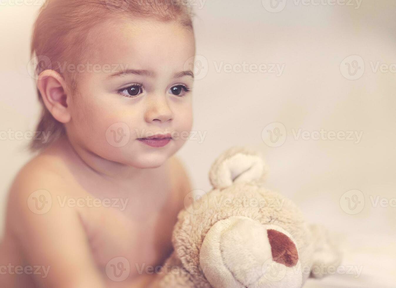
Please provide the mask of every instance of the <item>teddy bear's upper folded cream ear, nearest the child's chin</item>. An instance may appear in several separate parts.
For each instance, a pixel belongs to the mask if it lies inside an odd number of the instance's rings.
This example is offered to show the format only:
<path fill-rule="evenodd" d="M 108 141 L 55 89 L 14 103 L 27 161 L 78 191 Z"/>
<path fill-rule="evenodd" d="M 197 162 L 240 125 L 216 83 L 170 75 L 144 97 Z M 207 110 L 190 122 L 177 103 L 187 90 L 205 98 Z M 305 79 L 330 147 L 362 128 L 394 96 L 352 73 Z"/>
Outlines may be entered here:
<path fill-rule="evenodd" d="M 213 188 L 217 189 L 227 188 L 233 183 L 260 184 L 266 172 L 261 153 L 235 146 L 215 160 L 209 171 L 209 180 Z"/>

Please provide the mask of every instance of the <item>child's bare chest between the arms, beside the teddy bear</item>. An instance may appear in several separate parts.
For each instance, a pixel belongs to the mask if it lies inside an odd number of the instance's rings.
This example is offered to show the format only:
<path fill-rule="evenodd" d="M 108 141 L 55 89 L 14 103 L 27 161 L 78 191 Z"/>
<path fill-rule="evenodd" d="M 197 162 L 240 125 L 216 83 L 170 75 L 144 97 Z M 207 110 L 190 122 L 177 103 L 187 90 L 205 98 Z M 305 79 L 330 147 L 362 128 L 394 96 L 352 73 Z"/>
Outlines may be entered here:
<path fill-rule="evenodd" d="M 88 197 L 91 205 L 79 208 L 93 259 L 106 279 L 133 278 L 166 260 L 181 201 L 174 189 L 171 181 L 157 181 L 138 193 L 97 193 Z"/>

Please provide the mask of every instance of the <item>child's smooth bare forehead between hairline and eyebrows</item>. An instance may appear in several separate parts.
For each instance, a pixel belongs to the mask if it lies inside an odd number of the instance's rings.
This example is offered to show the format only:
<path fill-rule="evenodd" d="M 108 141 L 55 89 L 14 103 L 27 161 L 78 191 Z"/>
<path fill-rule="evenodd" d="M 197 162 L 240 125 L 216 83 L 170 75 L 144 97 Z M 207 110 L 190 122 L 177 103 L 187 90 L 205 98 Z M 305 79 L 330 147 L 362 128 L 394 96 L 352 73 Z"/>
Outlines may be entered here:
<path fill-rule="evenodd" d="M 86 37 L 89 61 L 99 64 L 185 61 L 195 53 L 191 29 L 156 19 L 107 19 Z"/>

